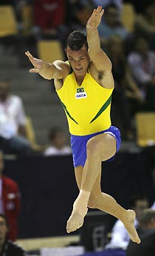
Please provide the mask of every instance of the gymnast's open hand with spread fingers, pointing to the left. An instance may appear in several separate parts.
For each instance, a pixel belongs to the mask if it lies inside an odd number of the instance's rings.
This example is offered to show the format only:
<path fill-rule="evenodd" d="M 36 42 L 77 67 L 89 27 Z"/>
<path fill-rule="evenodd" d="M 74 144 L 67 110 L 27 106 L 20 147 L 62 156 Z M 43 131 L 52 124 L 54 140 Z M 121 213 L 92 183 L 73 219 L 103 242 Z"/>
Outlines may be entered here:
<path fill-rule="evenodd" d="M 44 70 L 47 69 L 47 62 L 42 61 L 38 58 L 34 58 L 29 51 L 25 52 L 25 54 L 27 55 L 27 57 L 30 59 L 30 62 L 34 66 L 32 69 L 30 69 L 30 73 L 39 73 L 40 75 L 42 75 L 41 73 L 44 73 Z"/>

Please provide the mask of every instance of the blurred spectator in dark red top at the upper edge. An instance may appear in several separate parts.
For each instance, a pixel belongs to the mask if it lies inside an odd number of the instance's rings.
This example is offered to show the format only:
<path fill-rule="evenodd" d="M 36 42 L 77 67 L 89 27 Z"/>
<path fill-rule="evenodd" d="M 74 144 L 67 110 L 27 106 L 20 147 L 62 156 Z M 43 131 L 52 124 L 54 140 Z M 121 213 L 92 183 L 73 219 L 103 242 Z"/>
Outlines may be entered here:
<path fill-rule="evenodd" d="M 34 23 L 44 38 L 63 33 L 65 15 L 65 0 L 34 0 Z"/>

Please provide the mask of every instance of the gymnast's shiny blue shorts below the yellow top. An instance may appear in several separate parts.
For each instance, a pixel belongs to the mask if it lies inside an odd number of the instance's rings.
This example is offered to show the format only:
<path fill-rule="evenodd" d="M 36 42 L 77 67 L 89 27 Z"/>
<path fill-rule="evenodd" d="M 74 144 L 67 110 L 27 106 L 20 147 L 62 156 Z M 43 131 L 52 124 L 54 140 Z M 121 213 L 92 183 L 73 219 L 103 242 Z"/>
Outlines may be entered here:
<path fill-rule="evenodd" d="M 73 157 L 73 164 L 74 166 L 84 166 L 86 162 L 86 144 L 90 138 L 94 137 L 95 135 L 99 135 L 102 133 L 108 133 L 111 136 L 114 136 L 116 139 L 117 149 L 116 152 L 120 149 L 121 138 L 120 138 L 120 130 L 117 127 L 111 126 L 110 128 L 102 131 L 102 132 L 95 132 L 90 135 L 84 136 L 77 136 L 71 135 L 71 147 L 72 147 L 72 157 Z M 114 155 L 109 158 L 107 161 L 113 161 Z"/>

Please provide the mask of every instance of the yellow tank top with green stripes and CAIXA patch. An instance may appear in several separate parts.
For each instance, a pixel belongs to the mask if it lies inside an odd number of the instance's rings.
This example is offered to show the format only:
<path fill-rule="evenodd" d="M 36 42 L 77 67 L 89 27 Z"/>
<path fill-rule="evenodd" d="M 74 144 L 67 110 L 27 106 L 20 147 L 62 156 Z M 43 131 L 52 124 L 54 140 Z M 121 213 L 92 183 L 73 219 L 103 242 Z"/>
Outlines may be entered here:
<path fill-rule="evenodd" d="M 89 135 L 111 126 L 112 91 L 101 87 L 90 73 L 86 73 L 80 86 L 74 73 L 67 75 L 63 86 L 56 92 L 66 112 L 72 135 Z"/>

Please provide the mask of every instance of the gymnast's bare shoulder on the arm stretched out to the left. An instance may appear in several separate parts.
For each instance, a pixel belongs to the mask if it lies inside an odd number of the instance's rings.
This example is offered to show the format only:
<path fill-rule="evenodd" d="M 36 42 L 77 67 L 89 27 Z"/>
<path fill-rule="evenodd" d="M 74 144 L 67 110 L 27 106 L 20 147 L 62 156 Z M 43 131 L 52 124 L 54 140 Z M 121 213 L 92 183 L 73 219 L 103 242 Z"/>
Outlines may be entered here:
<path fill-rule="evenodd" d="M 65 80 L 66 76 L 69 75 L 70 65 L 66 61 L 59 61 L 59 60 L 54 61 L 53 64 L 55 64 L 55 66 L 61 68 L 61 70 L 63 72 L 63 78 L 61 78 L 61 79 L 55 78 L 55 80 L 54 80 L 55 89 L 59 90 L 63 86 L 63 81 Z"/>

